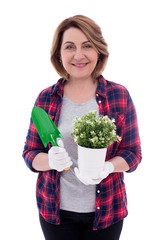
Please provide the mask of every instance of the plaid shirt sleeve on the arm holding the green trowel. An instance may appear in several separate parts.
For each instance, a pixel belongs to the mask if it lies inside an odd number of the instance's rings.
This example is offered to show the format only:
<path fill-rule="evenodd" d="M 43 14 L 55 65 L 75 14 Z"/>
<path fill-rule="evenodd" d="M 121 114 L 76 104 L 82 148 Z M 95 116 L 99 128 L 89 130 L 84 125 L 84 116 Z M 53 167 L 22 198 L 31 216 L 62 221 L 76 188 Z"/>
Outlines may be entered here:
<path fill-rule="evenodd" d="M 40 95 L 38 96 L 34 106 L 39 106 L 39 103 Z M 33 172 L 38 172 L 32 167 L 32 162 L 35 156 L 40 152 L 46 152 L 46 149 L 43 146 L 43 143 L 31 118 L 22 156 L 27 167 Z"/>

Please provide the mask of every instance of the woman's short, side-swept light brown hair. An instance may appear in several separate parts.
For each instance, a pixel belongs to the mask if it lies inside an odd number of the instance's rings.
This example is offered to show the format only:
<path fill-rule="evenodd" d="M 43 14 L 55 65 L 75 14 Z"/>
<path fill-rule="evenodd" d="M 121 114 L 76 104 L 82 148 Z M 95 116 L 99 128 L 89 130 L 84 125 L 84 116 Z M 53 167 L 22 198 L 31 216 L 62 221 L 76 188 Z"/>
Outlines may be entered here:
<path fill-rule="evenodd" d="M 63 33 L 75 27 L 80 29 L 93 44 L 99 54 L 97 65 L 92 73 L 93 79 L 97 79 L 103 72 L 108 60 L 108 45 L 105 42 L 101 28 L 90 18 L 83 15 L 76 15 L 62 21 L 57 27 L 51 47 L 51 62 L 58 74 L 68 80 L 69 74 L 64 69 L 60 61 L 60 49 L 62 44 Z"/>

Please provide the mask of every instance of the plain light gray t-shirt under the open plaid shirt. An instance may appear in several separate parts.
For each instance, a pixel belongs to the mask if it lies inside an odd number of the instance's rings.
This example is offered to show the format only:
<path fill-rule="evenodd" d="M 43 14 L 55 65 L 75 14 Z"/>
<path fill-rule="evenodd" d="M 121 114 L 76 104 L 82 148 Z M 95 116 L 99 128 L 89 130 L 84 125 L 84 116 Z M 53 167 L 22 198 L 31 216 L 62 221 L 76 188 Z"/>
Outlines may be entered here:
<path fill-rule="evenodd" d="M 75 175 L 77 167 L 77 144 L 71 136 L 72 124 L 75 117 L 81 117 L 91 110 L 99 113 L 95 97 L 85 103 L 75 103 L 63 96 L 63 105 L 58 124 L 58 129 L 64 139 L 64 147 L 68 152 L 73 165 L 70 170 L 61 172 L 60 175 L 60 209 L 73 212 L 94 212 L 96 201 L 96 185 L 85 185 Z"/>

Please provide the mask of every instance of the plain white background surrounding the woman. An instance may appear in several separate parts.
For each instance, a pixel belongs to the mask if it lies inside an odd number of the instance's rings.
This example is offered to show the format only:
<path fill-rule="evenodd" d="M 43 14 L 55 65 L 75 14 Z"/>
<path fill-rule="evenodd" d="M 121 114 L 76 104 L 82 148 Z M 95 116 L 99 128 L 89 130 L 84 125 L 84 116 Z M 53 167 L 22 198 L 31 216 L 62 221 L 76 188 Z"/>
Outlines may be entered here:
<path fill-rule="evenodd" d="M 143 161 L 137 171 L 125 174 L 129 215 L 121 239 L 160 239 L 158 4 L 158 0 L 0 2 L 0 239 L 44 239 L 35 198 L 37 174 L 30 172 L 21 155 L 34 101 L 59 78 L 50 63 L 54 31 L 63 19 L 76 14 L 101 26 L 110 52 L 103 75 L 126 86 L 137 109 Z"/>

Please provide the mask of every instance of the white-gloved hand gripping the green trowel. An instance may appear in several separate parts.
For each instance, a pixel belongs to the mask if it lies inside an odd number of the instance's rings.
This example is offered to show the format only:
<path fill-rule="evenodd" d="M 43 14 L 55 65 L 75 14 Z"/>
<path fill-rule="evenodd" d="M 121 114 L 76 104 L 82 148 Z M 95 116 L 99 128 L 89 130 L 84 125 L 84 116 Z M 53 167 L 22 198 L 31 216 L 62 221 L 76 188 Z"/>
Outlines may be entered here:
<path fill-rule="evenodd" d="M 57 139 L 57 143 L 59 147 L 53 146 L 48 151 L 49 167 L 58 172 L 62 172 L 64 169 L 69 168 L 73 163 L 64 148 L 63 141 Z"/>

